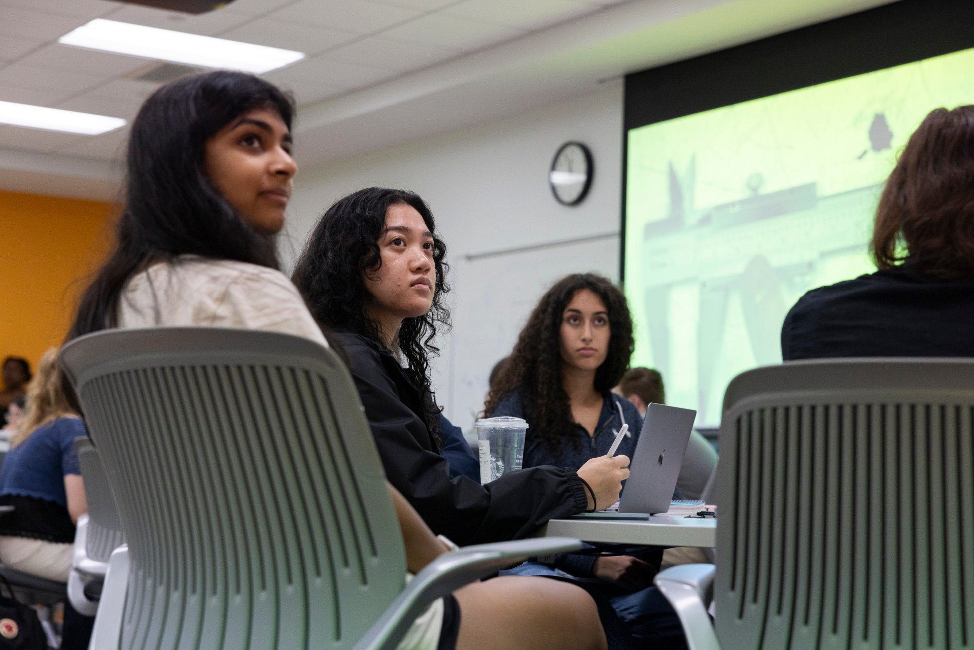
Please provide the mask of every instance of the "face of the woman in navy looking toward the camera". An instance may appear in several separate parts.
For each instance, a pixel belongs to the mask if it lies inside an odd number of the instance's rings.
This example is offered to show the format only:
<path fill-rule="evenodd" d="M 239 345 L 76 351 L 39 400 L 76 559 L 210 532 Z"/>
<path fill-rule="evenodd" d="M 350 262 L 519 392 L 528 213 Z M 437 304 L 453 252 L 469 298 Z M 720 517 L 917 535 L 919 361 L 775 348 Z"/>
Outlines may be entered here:
<path fill-rule="evenodd" d="M 561 360 L 569 367 L 595 370 L 609 356 L 609 310 L 597 293 L 575 292 L 561 315 Z"/>

